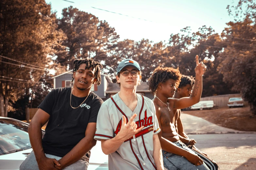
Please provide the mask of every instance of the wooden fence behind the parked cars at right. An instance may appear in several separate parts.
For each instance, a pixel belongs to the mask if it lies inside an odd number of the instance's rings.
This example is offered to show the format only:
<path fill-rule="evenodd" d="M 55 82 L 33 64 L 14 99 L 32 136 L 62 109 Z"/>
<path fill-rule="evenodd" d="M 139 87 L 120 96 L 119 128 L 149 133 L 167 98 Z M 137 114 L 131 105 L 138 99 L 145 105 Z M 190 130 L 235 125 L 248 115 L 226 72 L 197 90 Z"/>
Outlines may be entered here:
<path fill-rule="evenodd" d="M 225 94 L 210 97 L 201 97 L 200 101 L 213 100 L 213 103 L 216 106 L 225 107 L 228 106 L 228 102 L 231 97 L 241 97 L 241 94 Z M 245 105 L 247 105 L 247 102 L 245 102 Z"/>

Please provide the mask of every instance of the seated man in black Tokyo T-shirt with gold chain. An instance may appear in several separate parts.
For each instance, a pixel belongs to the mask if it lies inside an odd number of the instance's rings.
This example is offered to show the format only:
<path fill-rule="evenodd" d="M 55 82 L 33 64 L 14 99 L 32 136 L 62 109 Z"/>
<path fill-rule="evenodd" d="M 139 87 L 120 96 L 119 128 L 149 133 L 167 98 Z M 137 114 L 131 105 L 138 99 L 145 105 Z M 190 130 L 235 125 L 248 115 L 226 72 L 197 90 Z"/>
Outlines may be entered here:
<path fill-rule="evenodd" d="M 73 66 L 74 86 L 54 89 L 38 106 L 28 127 L 33 151 L 21 170 L 87 169 L 103 103 L 90 90 L 94 84 L 100 85 L 102 65 L 93 59 L 81 59 Z M 42 139 L 41 128 L 47 121 Z"/>

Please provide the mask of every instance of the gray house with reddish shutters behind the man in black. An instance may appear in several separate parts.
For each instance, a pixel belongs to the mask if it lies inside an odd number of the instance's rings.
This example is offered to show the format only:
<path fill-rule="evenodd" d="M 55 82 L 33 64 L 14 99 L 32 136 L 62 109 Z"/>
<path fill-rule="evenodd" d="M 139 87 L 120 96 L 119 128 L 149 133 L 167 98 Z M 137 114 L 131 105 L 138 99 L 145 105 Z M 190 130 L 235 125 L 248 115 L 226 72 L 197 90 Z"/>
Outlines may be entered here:
<path fill-rule="evenodd" d="M 73 70 L 67 71 L 65 73 L 59 74 L 57 76 L 52 77 L 53 78 L 53 84 L 54 89 L 61 88 L 61 87 L 72 87 L 74 82 L 71 82 L 72 80 L 72 72 Z M 99 86 L 92 86 L 91 91 L 93 91 L 95 94 L 97 94 L 102 100 L 106 100 L 106 90 L 108 86 L 107 78 L 109 76 L 101 74 L 101 84 Z"/>

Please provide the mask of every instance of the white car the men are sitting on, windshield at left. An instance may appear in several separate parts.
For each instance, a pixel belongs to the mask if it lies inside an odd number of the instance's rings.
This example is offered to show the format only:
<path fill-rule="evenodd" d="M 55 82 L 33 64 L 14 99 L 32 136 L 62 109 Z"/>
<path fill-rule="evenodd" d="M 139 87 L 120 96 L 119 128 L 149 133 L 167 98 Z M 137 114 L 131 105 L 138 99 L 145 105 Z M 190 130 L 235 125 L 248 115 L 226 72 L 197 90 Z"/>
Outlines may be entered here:
<path fill-rule="evenodd" d="M 0 117 L 0 169 L 19 170 L 21 163 L 32 151 L 28 123 Z M 44 135 L 44 130 L 42 129 Z M 108 155 L 101 150 L 100 142 L 91 150 L 88 170 L 108 170 Z"/>

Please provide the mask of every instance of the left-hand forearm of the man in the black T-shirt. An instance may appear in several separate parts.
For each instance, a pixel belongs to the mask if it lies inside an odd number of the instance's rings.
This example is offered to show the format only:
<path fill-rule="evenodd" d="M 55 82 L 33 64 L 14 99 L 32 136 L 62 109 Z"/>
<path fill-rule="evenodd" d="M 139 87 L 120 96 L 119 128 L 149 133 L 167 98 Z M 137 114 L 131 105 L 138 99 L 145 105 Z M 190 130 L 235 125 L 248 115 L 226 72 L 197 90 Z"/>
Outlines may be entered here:
<path fill-rule="evenodd" d="M 33 123 L 32 121 L 28 127 L 28 135 L 31 147 L 34 151 L 36 160 L 39 161 L 41 158 L 45 158 L 45 154 L 42 146 L 42 129 L 39 123 Z"/>

